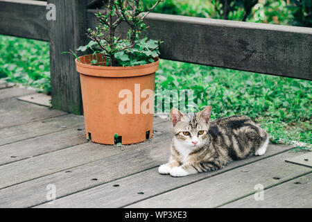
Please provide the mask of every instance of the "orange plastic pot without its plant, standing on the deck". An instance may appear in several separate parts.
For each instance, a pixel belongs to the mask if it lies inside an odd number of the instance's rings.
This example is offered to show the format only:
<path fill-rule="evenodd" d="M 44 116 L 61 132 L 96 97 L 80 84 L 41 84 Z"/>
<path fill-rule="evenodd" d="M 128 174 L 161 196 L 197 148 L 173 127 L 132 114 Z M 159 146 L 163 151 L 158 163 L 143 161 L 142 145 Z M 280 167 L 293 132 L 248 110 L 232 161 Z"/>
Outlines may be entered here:
<path fill-rule="evenodd" d="M 146 99 L 154 105 L 154 96 L 142 98 L 141 92 L 154 92 L 159 58 L 135 67 L 90 65 L 91 58 L 76 59 L 87 139 L 99 144 L 135 144 L 152 137 L 153 112 L 142 112 L 139 107 Z"/>

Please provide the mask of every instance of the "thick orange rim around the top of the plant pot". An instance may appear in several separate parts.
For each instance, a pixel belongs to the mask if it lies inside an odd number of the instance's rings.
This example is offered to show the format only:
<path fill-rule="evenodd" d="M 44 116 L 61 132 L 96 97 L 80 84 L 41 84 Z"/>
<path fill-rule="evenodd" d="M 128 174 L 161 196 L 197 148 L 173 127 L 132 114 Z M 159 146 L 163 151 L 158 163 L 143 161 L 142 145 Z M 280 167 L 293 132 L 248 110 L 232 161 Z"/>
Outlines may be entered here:
<path fill-rule="evenodd" d="M 78 57 L 79 60 L 87 56 L 92 56 L 88 54 L 85 56 Z M 80 74 L 87 76 L 98 76 L 98 77 L 131 77 L 131 76 L 145 76 L 148 74 L 153 74 L 157 71 L 159 66 L 159 58 L 155 58 L 155 62 L 151 62 L 145 65 L 136 65 L 132 67 L 100 67 L 95 65 L 85 64 L 79 62 L 76 58 L 76 69 Z"/>

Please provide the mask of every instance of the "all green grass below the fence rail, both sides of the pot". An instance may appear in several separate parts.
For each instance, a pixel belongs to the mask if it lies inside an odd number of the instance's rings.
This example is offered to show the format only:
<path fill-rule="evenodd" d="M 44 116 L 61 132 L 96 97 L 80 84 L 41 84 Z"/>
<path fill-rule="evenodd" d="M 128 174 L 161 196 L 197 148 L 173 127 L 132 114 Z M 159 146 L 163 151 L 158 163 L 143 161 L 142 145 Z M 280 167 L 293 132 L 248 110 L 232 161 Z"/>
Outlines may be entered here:
<path fill-rule="evenodd" d="M 49 44 L 3 35 L 0 41 L 0 78 L 49 93 Z M 161 60 L 156 88 L 193 89 L 196 110 L 211 105 L 212 119 L 243 114 L 284 142 L 312 144 L 311 81 Z"/>

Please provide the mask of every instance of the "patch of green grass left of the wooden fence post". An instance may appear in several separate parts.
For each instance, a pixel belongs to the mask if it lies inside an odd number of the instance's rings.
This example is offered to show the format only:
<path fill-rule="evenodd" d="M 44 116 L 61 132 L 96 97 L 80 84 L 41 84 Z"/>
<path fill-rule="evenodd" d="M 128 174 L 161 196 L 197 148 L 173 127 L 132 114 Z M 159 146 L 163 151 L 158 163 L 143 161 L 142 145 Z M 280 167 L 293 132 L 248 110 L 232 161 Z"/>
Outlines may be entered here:
<path fill-rule="evenodd" d="M 50 92 L 49 43 L 0 35 L 0 78 Z"/>

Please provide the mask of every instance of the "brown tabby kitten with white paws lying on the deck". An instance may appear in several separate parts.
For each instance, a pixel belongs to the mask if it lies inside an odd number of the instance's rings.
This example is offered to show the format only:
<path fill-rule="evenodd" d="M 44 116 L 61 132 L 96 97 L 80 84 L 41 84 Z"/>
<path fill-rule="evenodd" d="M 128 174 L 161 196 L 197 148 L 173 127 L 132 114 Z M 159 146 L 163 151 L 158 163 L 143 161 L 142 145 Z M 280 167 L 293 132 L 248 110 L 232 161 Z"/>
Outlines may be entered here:
<path fill-rule="evenodd" d="M 160 174 L 180 177 L 214 171 L 232 160 L 266 153 L 268 133 L 252 119 L 236 115 L 209 121 L 210 115 L 211 106 L 196 114 L 172 108 L 171 157 L 158 168 Z"/>

